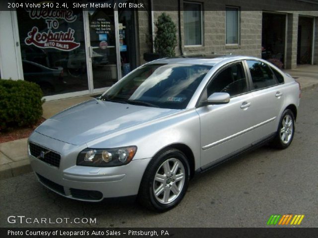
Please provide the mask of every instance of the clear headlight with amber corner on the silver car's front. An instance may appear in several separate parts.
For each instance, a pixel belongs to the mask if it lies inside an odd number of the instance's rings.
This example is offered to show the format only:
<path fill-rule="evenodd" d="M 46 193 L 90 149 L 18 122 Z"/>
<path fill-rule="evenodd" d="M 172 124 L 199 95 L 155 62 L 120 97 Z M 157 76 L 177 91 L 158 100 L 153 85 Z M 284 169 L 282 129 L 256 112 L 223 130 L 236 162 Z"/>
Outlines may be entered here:
<path fill-rule="evenodd" d="M 90 149 L 82 150 L 76 164 L 93 167 L 114 167 L 127 165 L 135 156 L 137 146 L 128 146 L 113 149 Z"/>

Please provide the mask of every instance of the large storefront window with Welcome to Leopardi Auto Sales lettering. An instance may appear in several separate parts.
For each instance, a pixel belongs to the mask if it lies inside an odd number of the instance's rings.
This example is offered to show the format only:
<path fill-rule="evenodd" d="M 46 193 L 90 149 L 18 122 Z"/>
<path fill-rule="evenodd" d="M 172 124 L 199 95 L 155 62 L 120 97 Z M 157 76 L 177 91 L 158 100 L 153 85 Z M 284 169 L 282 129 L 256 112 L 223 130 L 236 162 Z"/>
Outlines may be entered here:
<path fill-rule="evenodd" d="M 44 95 L 88 90 L 81 10 L 17 11 L 24 80 Z"/>

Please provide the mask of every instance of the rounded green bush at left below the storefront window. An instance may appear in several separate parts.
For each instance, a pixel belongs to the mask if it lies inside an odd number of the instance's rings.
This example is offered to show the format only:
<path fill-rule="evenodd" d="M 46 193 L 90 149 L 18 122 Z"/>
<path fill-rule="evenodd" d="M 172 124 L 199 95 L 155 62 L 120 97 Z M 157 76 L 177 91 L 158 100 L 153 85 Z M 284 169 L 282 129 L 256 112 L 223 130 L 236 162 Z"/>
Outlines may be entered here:
<path fill-rule="evenodd" d="M 34 125 L 42 116 L 42 97 L 35 83 L 0 79 L 0 130 Z"/>

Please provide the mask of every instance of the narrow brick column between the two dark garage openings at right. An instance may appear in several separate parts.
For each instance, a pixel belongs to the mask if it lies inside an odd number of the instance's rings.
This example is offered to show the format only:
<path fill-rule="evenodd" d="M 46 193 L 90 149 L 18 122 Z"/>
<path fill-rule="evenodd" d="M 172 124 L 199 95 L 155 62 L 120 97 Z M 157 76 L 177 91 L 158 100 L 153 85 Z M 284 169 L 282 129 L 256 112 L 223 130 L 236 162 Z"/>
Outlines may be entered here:
<path fill-rule="evenodd" d="M 297 13 L 288 13 L 286 69 L 297 67 L 298 17 Z"/>

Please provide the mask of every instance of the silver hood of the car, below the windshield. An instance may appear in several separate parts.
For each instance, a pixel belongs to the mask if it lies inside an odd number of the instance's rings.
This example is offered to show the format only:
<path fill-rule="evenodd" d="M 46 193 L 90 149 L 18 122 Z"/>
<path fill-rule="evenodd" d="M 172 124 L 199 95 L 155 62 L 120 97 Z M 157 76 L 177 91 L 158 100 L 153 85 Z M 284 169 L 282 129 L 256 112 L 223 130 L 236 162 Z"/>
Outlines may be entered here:
<path fill-rule="evenodd" d="M 35 131 L 79 145 L 177 111 L 93 99 L 47 119 Z"/>

